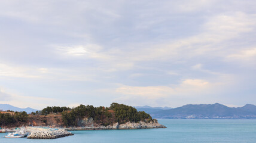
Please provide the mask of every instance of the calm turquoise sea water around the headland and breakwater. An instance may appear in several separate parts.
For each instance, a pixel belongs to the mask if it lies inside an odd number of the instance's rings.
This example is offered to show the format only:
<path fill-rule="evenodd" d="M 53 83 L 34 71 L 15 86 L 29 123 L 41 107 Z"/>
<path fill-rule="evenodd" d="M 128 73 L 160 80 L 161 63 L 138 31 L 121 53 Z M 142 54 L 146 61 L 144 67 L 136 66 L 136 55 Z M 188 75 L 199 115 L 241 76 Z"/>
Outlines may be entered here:
<path fill-rule="evenodd" d="M 159 123 L 167 129 L 83 130 L 59 139 L 0 138 L 0 142 L 256 142 L 256 120 L 159 120 Z"/>

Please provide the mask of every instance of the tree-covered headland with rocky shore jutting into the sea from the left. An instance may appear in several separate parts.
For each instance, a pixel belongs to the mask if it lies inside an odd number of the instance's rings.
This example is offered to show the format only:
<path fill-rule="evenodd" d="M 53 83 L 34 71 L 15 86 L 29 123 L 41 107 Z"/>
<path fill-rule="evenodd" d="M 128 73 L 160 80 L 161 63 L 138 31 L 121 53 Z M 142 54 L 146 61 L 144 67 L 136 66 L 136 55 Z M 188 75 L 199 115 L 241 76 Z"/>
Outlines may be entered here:
<path fill-rule="evenodd" d="M 75 108 L 46 107 L 30 114 L 25 111 L 1 111 L 0 126 L 5 129 L 40 126 L 60 130 L 166 128 L 153 119 L 150 114 L 115 102 L 110 107 L 93 107 L 93 105 L 79 105 Z"/>

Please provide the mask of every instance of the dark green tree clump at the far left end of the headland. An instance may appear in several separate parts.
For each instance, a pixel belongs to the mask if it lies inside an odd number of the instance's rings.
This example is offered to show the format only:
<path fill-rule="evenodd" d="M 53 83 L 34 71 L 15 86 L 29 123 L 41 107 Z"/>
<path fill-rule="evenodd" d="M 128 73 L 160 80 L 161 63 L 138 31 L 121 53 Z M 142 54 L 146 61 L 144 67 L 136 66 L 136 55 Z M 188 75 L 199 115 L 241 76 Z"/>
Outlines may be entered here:
<path fill-rule="evenodd" d="M 0 126 L 10 126 L 16 123 L 25 123 L 28 121 L 28 114 L 23 112 L 15 112 L 14 115 L 9 113 L 0 113 Z"/>

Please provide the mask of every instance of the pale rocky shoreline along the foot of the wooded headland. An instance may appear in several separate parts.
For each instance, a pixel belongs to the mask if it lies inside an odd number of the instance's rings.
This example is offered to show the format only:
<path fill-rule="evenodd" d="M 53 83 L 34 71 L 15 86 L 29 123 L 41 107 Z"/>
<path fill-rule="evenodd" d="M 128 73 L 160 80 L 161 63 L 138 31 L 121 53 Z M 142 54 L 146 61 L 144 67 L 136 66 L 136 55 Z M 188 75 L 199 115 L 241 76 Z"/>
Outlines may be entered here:
<path fill-rule="evenodd" d="M 114 125 L 109 126 L 85 126 L 77 128 L 65 128 L 66 130 L 112 130 L 112 129 L 154 129 L 154 128 L 166 128 L 166 126 L 161 125 L 157 122 L 127 122 L 125 124 L 115 123 Z"/>

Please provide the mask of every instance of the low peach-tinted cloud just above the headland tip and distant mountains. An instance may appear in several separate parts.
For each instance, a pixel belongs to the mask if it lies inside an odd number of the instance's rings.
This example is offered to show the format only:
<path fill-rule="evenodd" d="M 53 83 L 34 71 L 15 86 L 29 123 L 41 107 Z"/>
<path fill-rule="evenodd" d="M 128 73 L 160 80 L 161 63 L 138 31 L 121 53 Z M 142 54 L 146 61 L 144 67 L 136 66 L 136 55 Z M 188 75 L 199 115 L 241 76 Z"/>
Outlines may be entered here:
<path fill-rule="evenodd" d="M 129 105 L 173 107 L 178 104 L 175 101 L 191 103 L 194 102 L 191 99 L 205 98 L 217 88 L 215 84 L 202 79 L 184 79 L 178 85 L 170 86 L 121 86 L 115 90 L 120 95 L 113 101 Z"/>

